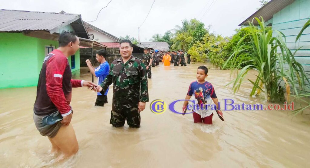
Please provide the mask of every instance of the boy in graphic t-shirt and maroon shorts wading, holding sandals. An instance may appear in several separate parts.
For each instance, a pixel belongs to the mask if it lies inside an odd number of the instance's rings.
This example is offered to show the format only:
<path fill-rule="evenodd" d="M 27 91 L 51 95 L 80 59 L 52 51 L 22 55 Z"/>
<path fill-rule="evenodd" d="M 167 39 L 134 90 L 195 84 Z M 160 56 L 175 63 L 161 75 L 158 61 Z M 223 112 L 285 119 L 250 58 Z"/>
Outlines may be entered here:
<path fill-rule="evenodd" d="M 197 69 L 197 81 L 192 82 L 189 85 L 185 100 L 189 100 L 192 96 L 195 98 L 195 104 L 199 105 L 198 109 L 193 110 L 194 123 L 212 124 L 213 109 L 210 107 L 212 101 L 216 105 L 216 112 L 221 120 L 223 119 L 223 113 L 219 109 L 219 100 L 216 97 L 213 85 L 210 82 L 205 81 L 208 76 L 208 68 L 206 66 L 199 66 Z M 188 101 L 184 101 L 183 115 L 185 114 Z M 207 106 L 206 108 L 206 105 Z"/>

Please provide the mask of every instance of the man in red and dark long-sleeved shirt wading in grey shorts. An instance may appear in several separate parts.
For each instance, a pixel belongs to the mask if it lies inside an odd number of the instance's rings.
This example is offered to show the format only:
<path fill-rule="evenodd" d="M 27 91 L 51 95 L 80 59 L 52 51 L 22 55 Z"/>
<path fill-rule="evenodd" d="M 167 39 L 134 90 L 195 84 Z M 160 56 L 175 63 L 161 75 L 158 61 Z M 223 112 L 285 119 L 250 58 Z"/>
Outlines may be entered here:
<path fill-rule="evenodd" d="M 37 98 L 33 107 L 33 120 L 42 136 L 51 141 L 51 152 L 60 151 L 57 161 L 69 157 L 78 151 L 78 141 L 70 124 L 72 87 L 96 86 L 91 81 L 71 79 L 69 56 L 79 49 L 80 41 L 71 32 L 59 36 L 59 48 L 49 53 L 42 65 L 37 87 Z M 45 125 L 42 119 L 58 111 L 63 120 L 53 125 Z"/>

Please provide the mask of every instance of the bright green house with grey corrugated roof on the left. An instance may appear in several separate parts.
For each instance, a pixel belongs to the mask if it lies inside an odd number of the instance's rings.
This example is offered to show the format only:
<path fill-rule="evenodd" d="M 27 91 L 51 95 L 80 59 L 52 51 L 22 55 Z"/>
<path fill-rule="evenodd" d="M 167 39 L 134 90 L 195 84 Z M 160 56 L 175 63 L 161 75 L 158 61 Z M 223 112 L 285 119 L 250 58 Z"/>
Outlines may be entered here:
<path fill-rule="evenodd" d="M 0 10 L 0 88 L 37 86 L 44 57 L 58 48 L 62 31 L 73 31 L 80 45 L 92 47 L 80 14 Z M 68 57 L 80 69 L 79 50 Z"/>

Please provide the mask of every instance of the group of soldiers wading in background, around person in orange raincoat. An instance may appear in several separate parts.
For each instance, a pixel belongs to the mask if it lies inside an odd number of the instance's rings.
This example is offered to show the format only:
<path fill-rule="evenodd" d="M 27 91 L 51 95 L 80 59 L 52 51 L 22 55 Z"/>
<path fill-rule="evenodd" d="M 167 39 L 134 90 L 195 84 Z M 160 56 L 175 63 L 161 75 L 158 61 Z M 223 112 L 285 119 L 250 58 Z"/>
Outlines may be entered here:
<path fill-rule="evenodd" d="M 179 51 L 167 51 L 167 54 L 170 55 L 170 63 L 174 66 L 179 66 L 179 63 L 181 64 L 181 66 L 186 66 L 185 54 L 183 53 L 182 49 L 180 49 Z M 151 53 L 149 53 L 149 49 L 146 47 L 144 48 L 143 60 L 149 79 L 152 78 L 152 67 L 156 67 L 157 65 L 159 65 L 159 62 L 162 62 L 163 56 L 163 51 L 153 50 L 151 51 Z M 187 64 L 190 64 L 190 62 L 190 54 L 187 53 Z"/>

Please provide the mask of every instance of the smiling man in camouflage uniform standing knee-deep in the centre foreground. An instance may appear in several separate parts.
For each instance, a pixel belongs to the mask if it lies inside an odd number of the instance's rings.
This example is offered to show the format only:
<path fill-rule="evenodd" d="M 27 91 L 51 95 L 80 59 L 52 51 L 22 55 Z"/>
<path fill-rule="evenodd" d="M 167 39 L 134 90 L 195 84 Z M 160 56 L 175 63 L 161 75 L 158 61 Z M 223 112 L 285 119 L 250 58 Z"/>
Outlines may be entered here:
<path fill-rule="evenodd" d="M 113 100 L 110 124 L 122 127 L 127 120 L 131 128 L 140 127 L 140 112 L 148 102 L 148 81 L 146 68 L 142 60 L 131 55 L 130 40 L 120 42 L 120 58 L 114 60 L 105 80 L 96 91 L 104 93 L 113 83 Z"/>

